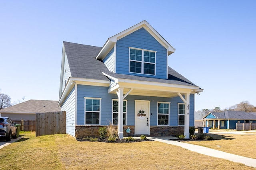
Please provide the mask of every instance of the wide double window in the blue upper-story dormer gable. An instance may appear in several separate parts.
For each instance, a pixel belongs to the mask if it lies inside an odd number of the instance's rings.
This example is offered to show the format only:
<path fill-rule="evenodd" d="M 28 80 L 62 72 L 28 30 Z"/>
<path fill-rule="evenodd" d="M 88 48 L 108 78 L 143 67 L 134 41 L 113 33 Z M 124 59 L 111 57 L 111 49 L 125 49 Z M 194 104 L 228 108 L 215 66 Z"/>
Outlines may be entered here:
<path fill-rule="evenodd" d="M 129 72 L 156 74 L 156 51 L 129 49 Z"/>

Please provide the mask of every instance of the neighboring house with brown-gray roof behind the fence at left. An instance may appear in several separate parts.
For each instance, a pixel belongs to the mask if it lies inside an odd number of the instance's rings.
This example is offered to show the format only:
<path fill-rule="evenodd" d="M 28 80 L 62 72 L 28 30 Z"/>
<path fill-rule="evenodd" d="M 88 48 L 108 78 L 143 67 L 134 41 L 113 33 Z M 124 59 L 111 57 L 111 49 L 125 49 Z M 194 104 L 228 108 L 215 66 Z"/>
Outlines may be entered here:
<path fill-rule="evenodd" d="M 0 116 L 10 117 L 12 120 L 36 120 L 36 113 L 60 111 L 58 101 L 28 100 L 0 110 Z"/>

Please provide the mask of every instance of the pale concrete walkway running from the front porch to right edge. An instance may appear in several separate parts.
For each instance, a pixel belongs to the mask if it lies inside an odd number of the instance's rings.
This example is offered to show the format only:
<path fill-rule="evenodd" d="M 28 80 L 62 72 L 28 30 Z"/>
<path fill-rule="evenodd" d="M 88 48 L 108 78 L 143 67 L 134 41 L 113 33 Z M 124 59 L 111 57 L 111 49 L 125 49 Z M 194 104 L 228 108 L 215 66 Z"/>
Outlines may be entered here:
<path fill-rule="evenodd" d="M 170 140 L 172 138 L 177 139 L 176 137 L 147 137 L 147 138 L 152 139 L 154 141 L 159 141 L 159 142 L 164 142 L 164 143 L 171 144 L 171 145 L 176 145 L 176 146 L 191 150 L 193 152 L 198 152 L 200 154 L 204 154 L 207 156 L 222 158 L 222 159 L 242 163 L 242 164 L 245 164 L 246 166 L 251 166 L 251 167 L 256 168 L 256 159 L 247 158 L 247 157 L 239 156 L 239 155 L 235 155 L 235 154 L 230 154 L 227 152 L 222 152 L 220 150 L 201 147 L 198 145 L 192 145 L 189 143 L 183 143 L 183 142 Z"/>

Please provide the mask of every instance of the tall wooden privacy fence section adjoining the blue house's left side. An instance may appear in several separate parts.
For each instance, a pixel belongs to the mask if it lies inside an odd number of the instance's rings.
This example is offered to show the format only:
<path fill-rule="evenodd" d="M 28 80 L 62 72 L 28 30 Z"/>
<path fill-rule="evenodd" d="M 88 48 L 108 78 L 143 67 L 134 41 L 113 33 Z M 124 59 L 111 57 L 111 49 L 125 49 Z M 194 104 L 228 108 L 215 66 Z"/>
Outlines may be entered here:
<path fill-rule="evenodd" d="M 36 113 L 36 136 L 66 133 L 66 111 Z"/>

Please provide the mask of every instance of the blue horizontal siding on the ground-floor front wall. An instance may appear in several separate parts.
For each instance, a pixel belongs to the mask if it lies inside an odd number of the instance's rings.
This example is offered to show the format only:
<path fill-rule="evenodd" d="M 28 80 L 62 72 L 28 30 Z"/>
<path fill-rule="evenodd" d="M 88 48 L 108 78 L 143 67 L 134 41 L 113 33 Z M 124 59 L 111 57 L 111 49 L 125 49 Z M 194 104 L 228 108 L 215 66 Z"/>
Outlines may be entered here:
<path fill-rule="evenodd" d="M 108 125 L 112 121 L 112 99 L 118 99 L 116 94 L 108 94 L 107 87 L 77 85 L 77 124 L 84 125 L 84 97 L 101 99 L 101 125 Z M 127 100 L 127 125 L 135 124 L 135 101 L 150 98 L 150 125 L 157 125 L 157 102 L 170 102 L 170 126 L 178 126 L 178 103 L 180 97 L 162 98 L 148 96 L 128 95 Z M 151 115 L 152 114 L 152 115 Z M 194 125 L 194 95 L 190 95 L 190 126 Z"/>

